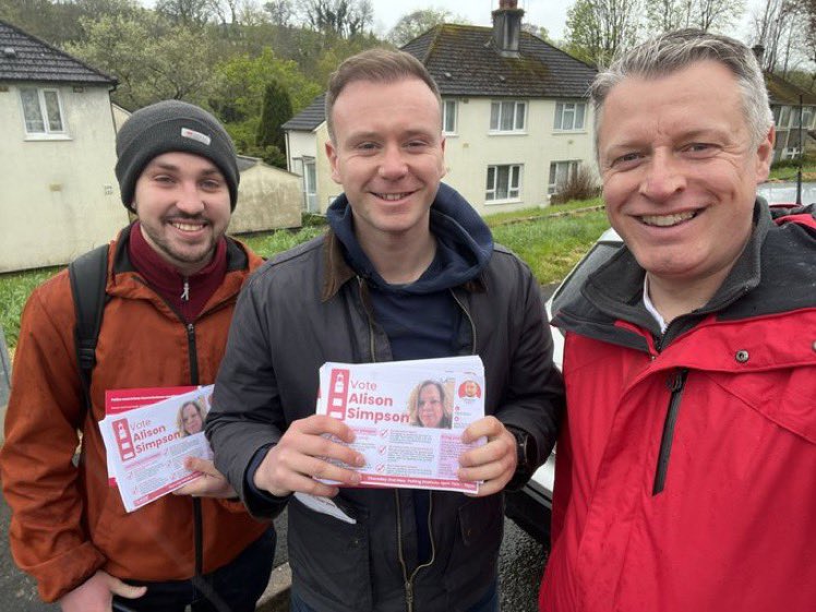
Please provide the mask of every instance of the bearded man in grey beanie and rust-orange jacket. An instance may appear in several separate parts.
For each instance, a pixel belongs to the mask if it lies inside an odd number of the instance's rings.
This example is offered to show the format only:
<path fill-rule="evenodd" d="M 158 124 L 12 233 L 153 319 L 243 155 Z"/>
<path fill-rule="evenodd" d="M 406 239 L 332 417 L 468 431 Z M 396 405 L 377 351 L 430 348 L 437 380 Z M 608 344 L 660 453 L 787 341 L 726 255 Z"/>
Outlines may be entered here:
<path fill-rule="evenodd" d="M 23 313 L 0 454 L 14 560 L 64 612 L 124 600 L 151 612 L 251 612 L 268 583 L 274 531 L 203 460 L 188 466 L 202 478 L 127 513 L 108 485 L 96 424 L 107 391 L 170 395 L 214 382 L 238 292 L 262 263 L 225 236 L 238 195 L 235 147 L 212 115 L 167 100 L 130 117 L 117 157 L 122 204 L 137 218 L 107 252 L 89 405 L 68 272 L 38 287 Z"/>

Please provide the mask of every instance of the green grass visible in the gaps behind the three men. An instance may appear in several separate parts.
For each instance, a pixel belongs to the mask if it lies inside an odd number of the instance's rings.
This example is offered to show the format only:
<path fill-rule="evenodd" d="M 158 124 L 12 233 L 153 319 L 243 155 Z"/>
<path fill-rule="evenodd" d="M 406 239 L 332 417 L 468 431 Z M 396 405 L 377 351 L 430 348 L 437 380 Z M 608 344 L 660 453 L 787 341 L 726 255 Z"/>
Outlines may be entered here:
<path fill-rule="evenodd" d="M 496 242 L 513 250 L 532 268 L 541 284 L 555 283 L 586 253 L 609 227 L 602 211 L 575 215 L 561 213 L 598 206 L 600 200 L 569 202 L 549 208 L 527 208 L 485 217 Z M 325 227 L 310 219 L 297 231 L 278 230 L 240 237 L 256 253 L 271 257 L 291 249 L 324 231 Z M 34 288 L 62 267 L 50 267 L 0 275 L 0 325 L 9 348 L 17 344 L 20 314 Z"/>

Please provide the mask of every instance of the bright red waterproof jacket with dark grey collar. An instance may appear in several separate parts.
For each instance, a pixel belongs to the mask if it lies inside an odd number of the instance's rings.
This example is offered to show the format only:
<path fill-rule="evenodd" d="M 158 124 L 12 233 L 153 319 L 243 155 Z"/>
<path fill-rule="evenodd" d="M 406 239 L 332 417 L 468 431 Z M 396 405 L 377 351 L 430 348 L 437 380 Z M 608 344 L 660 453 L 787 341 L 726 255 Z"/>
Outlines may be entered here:
<path fill-rule="evenodd" d="M 541 611 L 816 610 L 816 223 L 756 215 L 664 334 L 626 249 L 554 316 L 568 416 Z"/>

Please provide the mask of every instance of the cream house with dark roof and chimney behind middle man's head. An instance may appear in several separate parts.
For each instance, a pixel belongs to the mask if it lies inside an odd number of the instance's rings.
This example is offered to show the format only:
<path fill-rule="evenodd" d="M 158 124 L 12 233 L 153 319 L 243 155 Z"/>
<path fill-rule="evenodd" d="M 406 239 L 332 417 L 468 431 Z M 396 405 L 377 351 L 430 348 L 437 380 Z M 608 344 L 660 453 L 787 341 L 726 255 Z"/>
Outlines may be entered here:
<path fill-rule="evenodd" d="M 544 206 L 579 164 L 595 171 L 587 96 L 596 70 L 523 32 L 515 1 L 492 15 L 493 27 L 443 24 L 403 47 L 442 94 L 444 180 L 481 214 Z M 283 125 L 289 169 L 313 212 L 341 191 L 325 158 L 323 104 L 317 97 Z"/>

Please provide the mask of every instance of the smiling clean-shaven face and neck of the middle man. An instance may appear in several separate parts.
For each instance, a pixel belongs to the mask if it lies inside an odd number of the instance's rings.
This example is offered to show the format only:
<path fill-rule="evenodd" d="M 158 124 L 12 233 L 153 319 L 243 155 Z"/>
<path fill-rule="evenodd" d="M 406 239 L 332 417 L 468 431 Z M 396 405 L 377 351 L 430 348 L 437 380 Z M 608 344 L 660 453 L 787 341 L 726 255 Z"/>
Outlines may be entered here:
<path fill-rule="evenodd" d="M 351 205 L 363 248 L 429 236 L 429 211 L 445 176 L 442 115 L 425 83 L 353 81 L 332 110 L 332 178 Z"/>

